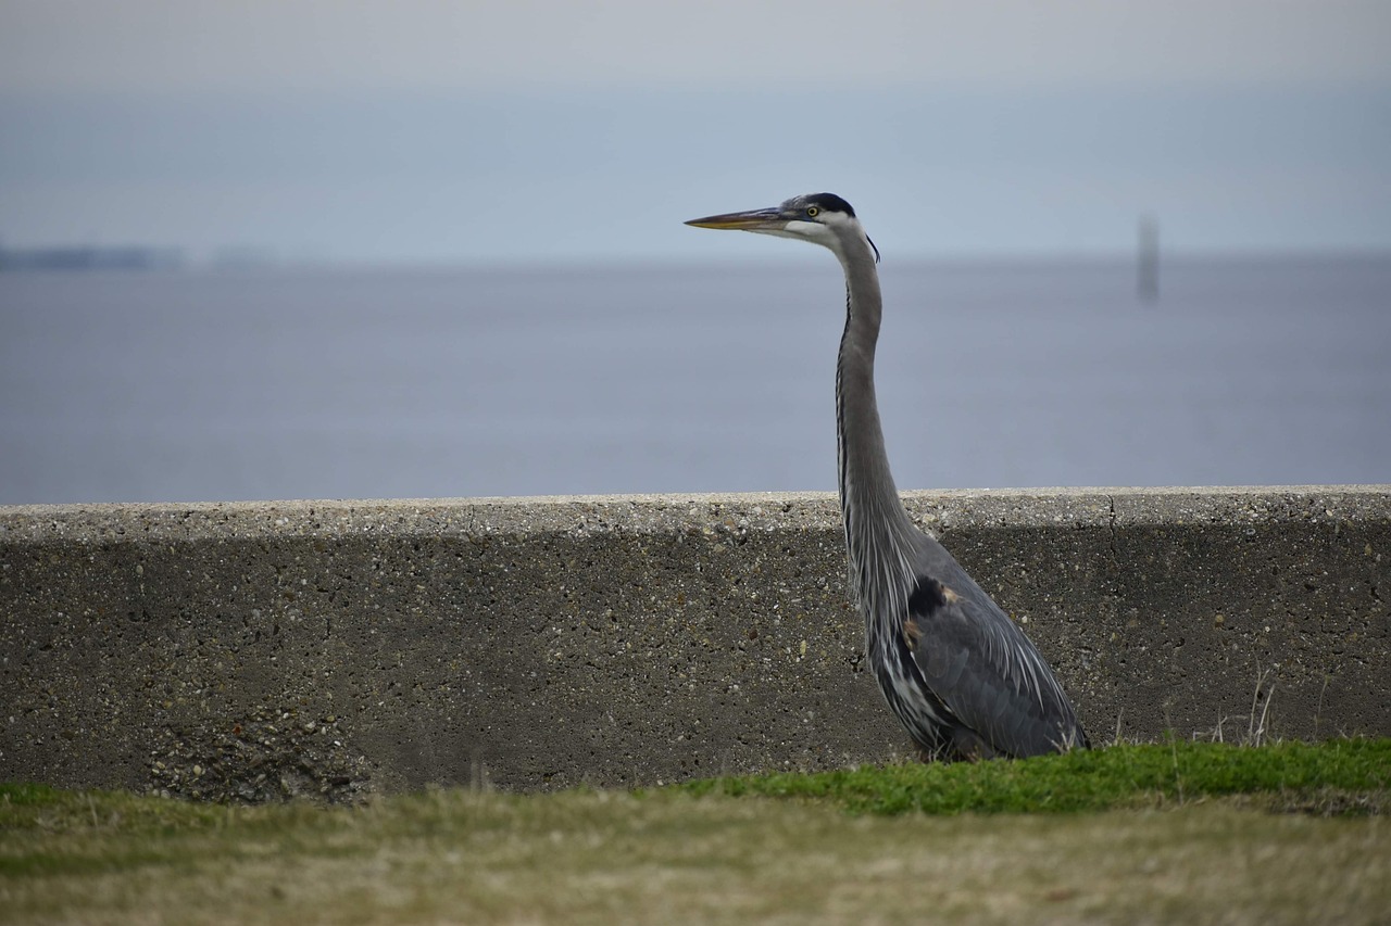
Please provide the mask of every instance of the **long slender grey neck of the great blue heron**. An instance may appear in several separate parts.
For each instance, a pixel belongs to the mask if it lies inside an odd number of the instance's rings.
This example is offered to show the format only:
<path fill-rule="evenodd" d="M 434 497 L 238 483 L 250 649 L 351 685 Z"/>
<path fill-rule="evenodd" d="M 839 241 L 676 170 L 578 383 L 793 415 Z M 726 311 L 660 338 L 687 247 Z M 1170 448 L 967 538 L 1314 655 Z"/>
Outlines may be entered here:
<path fill-rule="evenodd" d="M 840 453 L 840 507 L 851 581 L 862 603 L 906 578 L 912 523 L 899 501 L 883 446 L 874 391 L 874 355 L 883 300 L 868 243 L 850 250 L 846 270 L 846 331 L 836 364 L 836 437 Z M 907 594 L 907 592 L 903 592 Z"/>

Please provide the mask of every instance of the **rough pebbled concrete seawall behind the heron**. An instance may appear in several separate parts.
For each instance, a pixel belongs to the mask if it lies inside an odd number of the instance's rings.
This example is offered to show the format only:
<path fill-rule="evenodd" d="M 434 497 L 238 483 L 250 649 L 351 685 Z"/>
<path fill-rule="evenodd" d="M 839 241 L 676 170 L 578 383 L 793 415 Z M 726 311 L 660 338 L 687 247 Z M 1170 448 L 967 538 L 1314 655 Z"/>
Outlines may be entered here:
<path fill-rule="evenodd" d="M 1095 742 L 1391 736 L 1391 487 L 908 492 Z M 0 507 L 0 779 L 210 799 L 911 755 L 829 494 Z"/>

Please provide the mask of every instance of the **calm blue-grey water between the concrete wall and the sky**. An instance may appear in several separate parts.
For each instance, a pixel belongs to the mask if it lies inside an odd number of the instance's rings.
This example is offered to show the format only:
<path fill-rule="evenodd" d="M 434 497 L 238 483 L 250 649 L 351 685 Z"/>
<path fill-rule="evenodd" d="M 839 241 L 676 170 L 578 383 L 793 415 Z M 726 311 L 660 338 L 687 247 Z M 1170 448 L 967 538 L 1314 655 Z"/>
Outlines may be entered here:
<path fill-rule="evenodd" d="M 832 489 L 818 257 L 0 274 L 0 503 Z M 1391 482 L 1391 257 L 883 278 L 903 488 Z"/>

